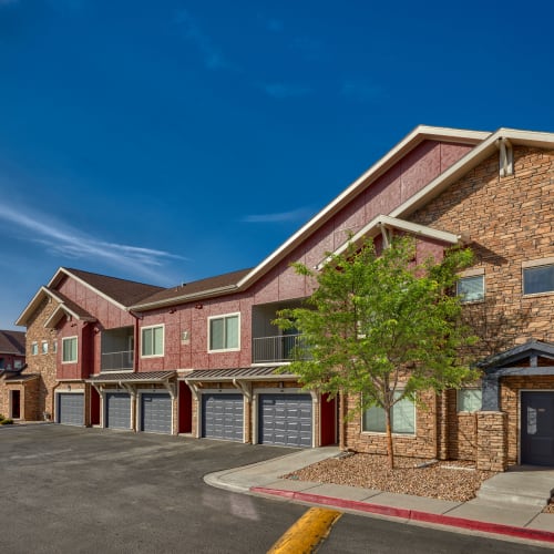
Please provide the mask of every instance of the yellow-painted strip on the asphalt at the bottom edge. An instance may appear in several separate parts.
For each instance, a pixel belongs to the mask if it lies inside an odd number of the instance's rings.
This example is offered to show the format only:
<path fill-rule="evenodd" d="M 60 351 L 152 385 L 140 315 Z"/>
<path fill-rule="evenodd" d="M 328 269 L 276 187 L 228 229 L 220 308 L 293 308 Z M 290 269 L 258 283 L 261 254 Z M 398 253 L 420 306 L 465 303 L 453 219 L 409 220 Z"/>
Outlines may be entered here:
<path fill-rule="evenodd" d="M 268 554 L 310 554 L 341 515 L 337 510 L 310 507 L 267 551 Z"/>

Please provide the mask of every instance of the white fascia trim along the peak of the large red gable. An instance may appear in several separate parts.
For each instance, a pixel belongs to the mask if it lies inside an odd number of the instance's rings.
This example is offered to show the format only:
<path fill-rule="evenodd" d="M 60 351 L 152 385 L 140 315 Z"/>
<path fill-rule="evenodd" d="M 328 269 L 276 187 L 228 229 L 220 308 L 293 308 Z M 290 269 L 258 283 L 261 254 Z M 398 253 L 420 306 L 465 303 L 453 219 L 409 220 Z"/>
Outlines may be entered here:
<path fill-rule="evenodd" d="M 304 227 L 295 233 L 287 242 L 285 242 L 273 254 L 265 258 L 257 267 L 248 275 L 243 277 L 237 284 L 237 288 L 243 288 L 250 285 L 259 273 L 263 273 L 266 267 L 280 258 L 280 256 L 290 252 L 301 239 L 311 232 L 312 227 L 325 223 L 338 208 L 345 205 L 352 195 L 358 193 L 360 185 L 367 181 L 375 181 L 380 177 L 394 163 L 403 157 L 409 151 L 413 150 L 424 140 L 452 140 L 459 143 L 478 144 L 491 135 L 489 132 L 481 131 L 463 131 L 448 127 L 431 127 L 419 125 L 407 137 L 398 143 L 392 150 L 373 164 L 366 173 L 358 177 L 350 186 L 337 196 L 330 204 L 312 217 Z"/>

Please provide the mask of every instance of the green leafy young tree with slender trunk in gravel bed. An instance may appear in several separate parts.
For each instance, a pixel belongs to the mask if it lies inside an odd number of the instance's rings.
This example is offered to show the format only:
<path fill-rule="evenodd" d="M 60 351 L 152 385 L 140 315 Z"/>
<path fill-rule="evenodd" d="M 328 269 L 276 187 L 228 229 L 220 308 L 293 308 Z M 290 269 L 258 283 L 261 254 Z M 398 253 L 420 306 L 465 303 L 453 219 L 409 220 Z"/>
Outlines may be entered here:
<path fill-rule="evenodd" d="M 387 452 L 394 466 L 391 413 L 418 392 L 460 388 L 475 379 L 463 352 L 474 338 L 461 324 L 460 298 L 453 294 L 456 271 L 472 253 L 452 248 L 442 261 L 416 264 L 416 242 L 398 237 L 381 253 L 371 240 L 329 255 L 320 271 L 295 264 L 314 278 L 305 307 L 278 312 L 274 322 L 302 334 L 302 348 L 287 370 L 306 389 L 353 394 L 348 417 L 371 407 L 384 411 Z M 309 357 L 306 359 L 306 349 Z"/>

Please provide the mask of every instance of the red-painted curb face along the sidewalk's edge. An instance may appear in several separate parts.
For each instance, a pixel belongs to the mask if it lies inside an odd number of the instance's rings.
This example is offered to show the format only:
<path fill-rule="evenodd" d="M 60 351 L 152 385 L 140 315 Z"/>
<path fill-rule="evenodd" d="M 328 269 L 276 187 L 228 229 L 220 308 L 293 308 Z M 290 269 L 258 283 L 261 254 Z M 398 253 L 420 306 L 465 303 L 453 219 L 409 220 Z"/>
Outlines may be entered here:
<path fill-rule="evenodd" d="M 332 496 L 322 496 L 320 494 L 310 494 L 306 492 L 283 491 L 280 489 L 266 489 L 264 486 L 253 486 L 252 492 L 281 496 L 290 500 L 300 500 L 302 502 L 312 502 L 328 506 L 343 507 L 348 510 L 358 510 L 360 512 L 376 513 L 380 515 L 390 515 L 392 517 L 402 517 L 425 523 L 437 523 L 452 527 L 462 527 L 485 533 L 495 533 L 499 535 L 515 536 L 519 538 L 529 538 L 533 541 L 544 541 L 554 543 L 554 533 L 551 531 L 541 531 L 538 529 L 516 527 L 514 525 L 503 525 L 501 523 L 489 523 L 476 520 L 466 520 L 464 517 L 454 517 L 452 515 L 431 514 L 418 510 L 406 507 L 384 506 L 381 504 L 370 504 L 358 500 L 335 499 Z"/>

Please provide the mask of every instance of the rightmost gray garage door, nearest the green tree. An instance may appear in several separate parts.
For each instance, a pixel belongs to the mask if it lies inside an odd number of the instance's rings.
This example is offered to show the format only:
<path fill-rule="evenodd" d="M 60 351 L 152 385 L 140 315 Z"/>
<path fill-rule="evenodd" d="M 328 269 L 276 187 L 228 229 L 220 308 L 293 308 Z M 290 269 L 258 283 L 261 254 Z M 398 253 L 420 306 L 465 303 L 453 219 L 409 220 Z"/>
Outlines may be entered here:
<path fill-rule="evenodd" d="M 311 448 L 311 396 L 260 394 L 258 442 Z"/>

